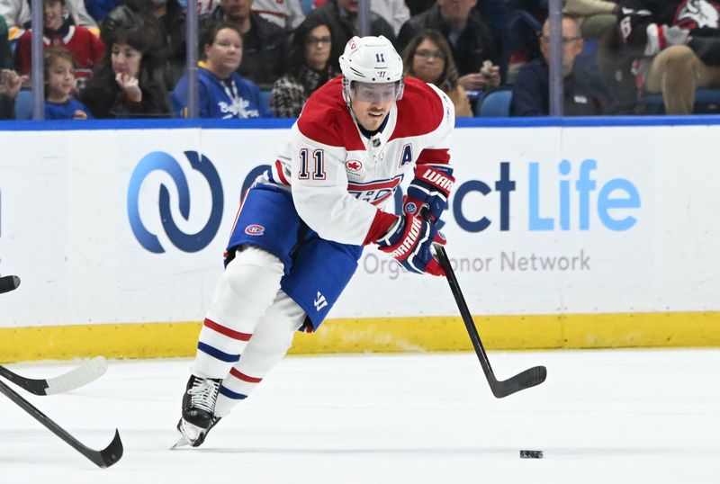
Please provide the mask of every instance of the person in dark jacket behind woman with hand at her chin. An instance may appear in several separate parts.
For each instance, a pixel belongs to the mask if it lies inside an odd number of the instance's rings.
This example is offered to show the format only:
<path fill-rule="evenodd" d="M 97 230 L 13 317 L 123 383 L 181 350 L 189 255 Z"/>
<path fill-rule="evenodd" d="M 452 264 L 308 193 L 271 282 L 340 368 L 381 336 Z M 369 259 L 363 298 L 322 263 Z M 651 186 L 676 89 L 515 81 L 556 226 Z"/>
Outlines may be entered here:
<path fill-rule="evenodd" d="M 172 89 L 186 67 L 185 13 L 177 0 L 121 0 L 136 12 L 148 13 L 160 22 L 167 50 L 167 85 Z"/>

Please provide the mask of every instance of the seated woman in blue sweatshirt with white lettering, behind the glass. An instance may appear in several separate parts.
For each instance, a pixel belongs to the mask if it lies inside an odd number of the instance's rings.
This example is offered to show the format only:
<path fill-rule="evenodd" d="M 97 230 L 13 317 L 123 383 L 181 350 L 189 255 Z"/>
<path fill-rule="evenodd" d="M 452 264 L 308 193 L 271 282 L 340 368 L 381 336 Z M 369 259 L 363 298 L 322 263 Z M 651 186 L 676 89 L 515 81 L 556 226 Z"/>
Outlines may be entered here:
<path fill-rule="evenodd" d="M 212 23 L 201 34 L 202 64 L 198 71 L 201 118 L 269 118 L 260 88 L 238 74 L 242 62 L 242 33 L 227 22 Z M 187 74 L 172 95 L 175 110 L 187 117 Z"/>

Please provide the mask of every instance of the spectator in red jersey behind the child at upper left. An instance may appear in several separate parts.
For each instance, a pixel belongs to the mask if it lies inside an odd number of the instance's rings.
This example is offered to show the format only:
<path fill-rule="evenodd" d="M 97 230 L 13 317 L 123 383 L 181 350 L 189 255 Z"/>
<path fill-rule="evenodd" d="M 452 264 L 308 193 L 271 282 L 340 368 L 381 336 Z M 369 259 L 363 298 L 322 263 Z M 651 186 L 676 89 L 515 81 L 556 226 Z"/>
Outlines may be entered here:
<path fill-rule="evenodd" d="M 104 45 L 91 31 L 75 25 L 65 8 L 66 0 L 43 0 L 43 44 L 45 47 L 65 47 L 73 53 L 76 63 L 76 77 L 85 81 L 93 76 Z M 15 70 L 21 75 L 31 71 L 31 30 L 25 31 L 18 40 L 15 50 Z M 81 81 L 82 82 L 82 81 Z"/>

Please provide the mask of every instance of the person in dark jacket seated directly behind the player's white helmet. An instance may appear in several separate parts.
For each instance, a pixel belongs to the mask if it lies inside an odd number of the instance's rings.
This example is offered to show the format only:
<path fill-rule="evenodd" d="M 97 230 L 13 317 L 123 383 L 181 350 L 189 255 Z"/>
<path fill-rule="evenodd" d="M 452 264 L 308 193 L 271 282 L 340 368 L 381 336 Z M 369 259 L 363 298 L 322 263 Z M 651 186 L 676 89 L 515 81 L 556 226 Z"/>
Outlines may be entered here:
<path fill-rule="evenodd" d="M 339 70 L 338 59 L 343 53 L 347 40 L 359 35 L 357 31 L 358 0 L 329 0 L 327 4 L 313 10 L 308 18 L 320 20 L 329 25 L 332 31 L 332 49 L 330 62 L 333 68 Z M 370 13 L 370 33 L 368 35 L 384 35 L 392 43 L 395 42 L 395 31 L 392 25 L 377 13 Z"/>

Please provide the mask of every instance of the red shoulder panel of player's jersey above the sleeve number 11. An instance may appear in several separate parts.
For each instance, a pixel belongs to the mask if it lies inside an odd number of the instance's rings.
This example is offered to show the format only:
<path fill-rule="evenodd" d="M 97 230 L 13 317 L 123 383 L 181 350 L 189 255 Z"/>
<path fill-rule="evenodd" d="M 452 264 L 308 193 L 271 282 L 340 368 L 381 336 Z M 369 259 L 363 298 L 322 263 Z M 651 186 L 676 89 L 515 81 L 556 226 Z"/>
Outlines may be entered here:
<path fill-rule="evenodd" d="M 323 145 L 365 149 L 343 100 L 342 76 L 329 80 L 311 94 L 298 119 L 298 130 Z"/>

